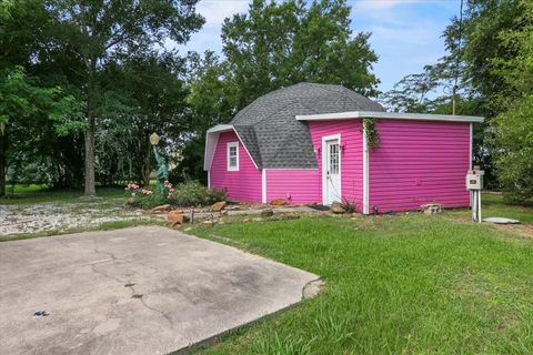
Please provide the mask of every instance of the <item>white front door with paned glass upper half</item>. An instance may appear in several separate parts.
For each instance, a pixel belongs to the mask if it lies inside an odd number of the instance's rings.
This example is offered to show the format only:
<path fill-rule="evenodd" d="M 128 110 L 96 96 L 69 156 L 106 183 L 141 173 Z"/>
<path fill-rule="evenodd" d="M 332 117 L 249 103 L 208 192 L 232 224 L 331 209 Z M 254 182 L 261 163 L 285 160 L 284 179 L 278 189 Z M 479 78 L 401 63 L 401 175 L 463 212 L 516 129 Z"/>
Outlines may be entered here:
<path fill-rule="evenodd" d="M 341 202 L 341 154 L 340 139 L 324 140 L 324 164 L 323 164 L 323 183 L 324 183 L 324 204 L 330 205 L 333 202 Z"/>

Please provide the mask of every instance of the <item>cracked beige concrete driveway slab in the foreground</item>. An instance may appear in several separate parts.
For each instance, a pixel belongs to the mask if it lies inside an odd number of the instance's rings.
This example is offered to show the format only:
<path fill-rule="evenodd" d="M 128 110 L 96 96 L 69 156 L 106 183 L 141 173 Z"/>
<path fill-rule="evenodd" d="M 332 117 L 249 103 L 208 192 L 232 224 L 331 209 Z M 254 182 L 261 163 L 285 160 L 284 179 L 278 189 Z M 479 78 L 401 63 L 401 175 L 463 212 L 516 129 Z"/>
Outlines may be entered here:
<path fill-rule="evenodd" d="M 164 227 L 4 242 L 0 353 L 167 354 L 298 303 L 316 278 Z"/>

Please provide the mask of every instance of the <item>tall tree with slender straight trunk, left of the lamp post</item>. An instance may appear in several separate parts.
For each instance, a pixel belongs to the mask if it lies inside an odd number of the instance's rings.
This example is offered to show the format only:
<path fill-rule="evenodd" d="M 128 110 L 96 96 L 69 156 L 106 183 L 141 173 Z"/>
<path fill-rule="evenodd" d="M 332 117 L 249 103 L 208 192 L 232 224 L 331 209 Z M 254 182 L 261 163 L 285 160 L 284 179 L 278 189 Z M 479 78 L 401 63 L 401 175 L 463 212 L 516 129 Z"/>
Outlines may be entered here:
<path fill-rule="evenodd" d="M 203 24 L 194 12 L 198 0 L 104 1 L 47 0 L 44 9 L 58 23 L 54 33 L 57 57 L 82 63 L 71 81 L 84 104 L 84 189 L 95 195 L 95 132 L 99 121 L 117 116 L 122 102 L 110 102 L 104 69 L 137 53 L 147 52 L 164 40 L 184 43 Z"/>

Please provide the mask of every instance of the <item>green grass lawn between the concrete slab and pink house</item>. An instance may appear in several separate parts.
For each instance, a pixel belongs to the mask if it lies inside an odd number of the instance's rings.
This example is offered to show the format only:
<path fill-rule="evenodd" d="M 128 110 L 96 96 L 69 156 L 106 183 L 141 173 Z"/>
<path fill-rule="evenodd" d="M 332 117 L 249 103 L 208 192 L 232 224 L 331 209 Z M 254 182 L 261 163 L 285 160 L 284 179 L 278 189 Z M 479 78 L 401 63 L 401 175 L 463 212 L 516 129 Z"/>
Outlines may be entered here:
<path fill-rule="evenodd" d="M 489 196 L 487 215 L 533 223 Z M 198 226 L 191 233 L 325 281 L 315 298 L 205 354 L 533 354 L 533 237 L 469 212 Z"/>

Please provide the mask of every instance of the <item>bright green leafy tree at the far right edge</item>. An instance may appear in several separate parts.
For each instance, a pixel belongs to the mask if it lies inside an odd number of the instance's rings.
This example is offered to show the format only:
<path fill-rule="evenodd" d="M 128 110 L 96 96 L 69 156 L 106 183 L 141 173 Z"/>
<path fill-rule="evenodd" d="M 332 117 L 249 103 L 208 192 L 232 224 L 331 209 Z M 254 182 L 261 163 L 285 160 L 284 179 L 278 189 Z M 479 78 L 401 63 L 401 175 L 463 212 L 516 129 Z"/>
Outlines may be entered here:
<path fill-rule="evenodd" d="M 505 83 L 495 98 L 506 111 L 492 120 L 499 179 L 507 200 L 523 202 L 533 199 L 533 3 L 517 6 L 521 16 L 497 36 L 515 55 L 493 58 L 489 75 Z"/>

